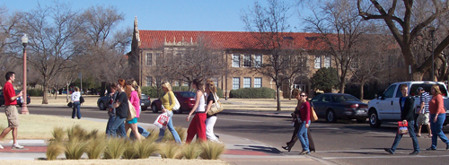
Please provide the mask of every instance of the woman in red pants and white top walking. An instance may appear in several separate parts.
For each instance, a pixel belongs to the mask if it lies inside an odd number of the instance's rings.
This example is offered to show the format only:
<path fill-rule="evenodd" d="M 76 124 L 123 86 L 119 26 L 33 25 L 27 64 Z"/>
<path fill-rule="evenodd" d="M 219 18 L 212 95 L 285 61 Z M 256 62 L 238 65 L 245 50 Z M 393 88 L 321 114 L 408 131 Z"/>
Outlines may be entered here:
<path fill-rule="evenodd" d="M 190 84 L 193 89 L 197 91 L 195 95 L 195 106 L 190 110 L 189 115 L 186 120 L 189 121 L 190 116 L 195 112 L 195 116 L 190 122 L 189 128 L 187 129 L 187 139 L 186 143 L 190 143 L 195 135 L 197 135 L 199 141 L 205 142 L 206 137 L 206 114 L 205 109 L 206 101 L 204 99 L 204 85 L 200 80 L 195 79 Z"/>

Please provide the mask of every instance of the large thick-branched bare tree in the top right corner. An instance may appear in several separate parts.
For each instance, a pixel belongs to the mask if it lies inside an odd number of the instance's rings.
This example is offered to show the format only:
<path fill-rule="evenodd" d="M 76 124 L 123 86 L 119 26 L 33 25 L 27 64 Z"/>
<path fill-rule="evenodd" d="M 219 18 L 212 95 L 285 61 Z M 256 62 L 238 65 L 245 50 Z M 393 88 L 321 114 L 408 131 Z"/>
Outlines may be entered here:
<path fill-rule="evenodd" d="M 417 5 L 414 5 L 417 3 Z M 419 5 L 418 5 L 419 4 Z M 372 9 L 371 7 L 374 7 Z M 386 6 L 387 10 L 385 10 Z M 359 15 L 365 20 L 383 20 L 392 36 L 401 47 L 405 64 L 411 65 L 413 80 L 422 80 L 423 74 L 432 67 L 434 61 L 427 58 L 422 65 L 418 65 L 417 56 L 412 51 L 412 43 L 418 37 L 420 30 L 432 25 L 436 19 L 449 11 L 448 0 L 398 0 L 376 1 L 357 0 Z M 416 17 L 420 15 L 421 18 Z M 433 56 L 438 58 L 449 45 L 449 35 L 436 45 Z M 435 75 L 432 75 L 435 77 Z M 434 78 L 432 78 L 434 79 Z"/>

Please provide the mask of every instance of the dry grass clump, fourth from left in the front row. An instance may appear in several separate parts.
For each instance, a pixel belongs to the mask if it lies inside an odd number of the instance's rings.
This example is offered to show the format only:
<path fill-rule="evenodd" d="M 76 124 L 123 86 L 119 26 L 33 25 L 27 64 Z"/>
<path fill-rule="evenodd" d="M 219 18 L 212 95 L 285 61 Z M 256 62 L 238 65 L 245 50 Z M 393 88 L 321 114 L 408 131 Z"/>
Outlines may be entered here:
<path fill-rule="evenodd" d="M 119 159 L 126 150 L 127 147 L 124 139 L 110 138 L 107 143 L 106 150 L 104 150 L 104 158 Z"/>

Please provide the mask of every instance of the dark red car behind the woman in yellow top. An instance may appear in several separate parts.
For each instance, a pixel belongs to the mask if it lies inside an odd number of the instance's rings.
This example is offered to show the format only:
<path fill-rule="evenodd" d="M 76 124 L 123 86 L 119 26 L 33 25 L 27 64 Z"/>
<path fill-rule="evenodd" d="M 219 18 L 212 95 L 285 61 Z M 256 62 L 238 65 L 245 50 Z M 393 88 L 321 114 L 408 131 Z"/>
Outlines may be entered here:
<path fill-rule="evenodd" d="M 176 99 L 180 102 L 180 109 L 174 113 L 182 113 L 182 111 L 190 111 L 195 106 L 195 93 L 191 91 L 173 91 Z M 154 100 L 151 103 L 151 109 L 154 113 L 161 110 L 162 101 L 160 99 Z"/>

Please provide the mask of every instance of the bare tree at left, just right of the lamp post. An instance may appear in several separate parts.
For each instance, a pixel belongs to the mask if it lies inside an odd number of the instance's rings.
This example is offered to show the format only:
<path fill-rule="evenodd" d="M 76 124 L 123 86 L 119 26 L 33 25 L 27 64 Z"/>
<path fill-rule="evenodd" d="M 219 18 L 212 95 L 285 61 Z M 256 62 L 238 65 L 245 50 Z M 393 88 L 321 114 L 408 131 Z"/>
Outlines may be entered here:
<path fill-rule="evenodd" d="M 48 104 L 48 83 L 57 74 L 75 65 L 67 63 L 79 55 L 83 48 L 75 43 L 83 20 L 66 4 L 55 4 L 23 13 L 22 31 L 29 34 L 29 62 L 39 70 L 43 79 L 44 96 L 42 104 Z"/>

